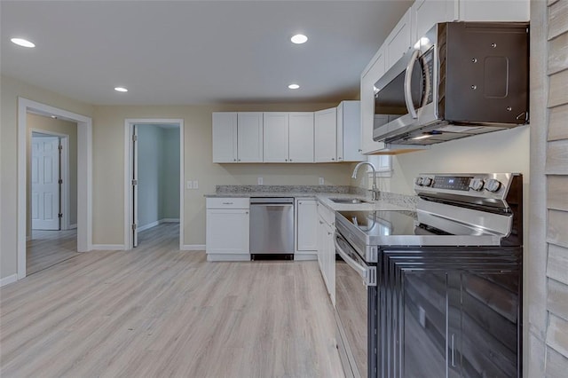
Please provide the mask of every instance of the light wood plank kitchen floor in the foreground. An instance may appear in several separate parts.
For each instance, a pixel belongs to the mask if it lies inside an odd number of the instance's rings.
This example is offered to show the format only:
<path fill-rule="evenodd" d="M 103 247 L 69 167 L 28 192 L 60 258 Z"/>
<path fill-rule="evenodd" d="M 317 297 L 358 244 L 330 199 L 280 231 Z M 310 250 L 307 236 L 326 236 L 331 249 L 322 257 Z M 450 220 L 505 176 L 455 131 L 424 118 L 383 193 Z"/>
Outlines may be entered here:
<path fill-rule="evenodd" d="M 342 377 L 315 262 L 208 263 L 177 226 L 0 289 L 0 376 Z"/>

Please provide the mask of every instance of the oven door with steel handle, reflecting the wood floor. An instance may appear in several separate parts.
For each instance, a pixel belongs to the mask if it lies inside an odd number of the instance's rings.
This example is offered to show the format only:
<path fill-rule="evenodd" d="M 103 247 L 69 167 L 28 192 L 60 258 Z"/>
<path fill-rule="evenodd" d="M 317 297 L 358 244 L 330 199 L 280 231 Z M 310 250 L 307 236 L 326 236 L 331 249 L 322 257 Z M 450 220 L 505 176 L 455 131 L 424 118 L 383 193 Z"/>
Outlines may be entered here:
<path fill-rule="evenodd" d="M 335 232 L 337 346 L 348 377 L 376 376 L 376 265 L 367 264 Z"/>

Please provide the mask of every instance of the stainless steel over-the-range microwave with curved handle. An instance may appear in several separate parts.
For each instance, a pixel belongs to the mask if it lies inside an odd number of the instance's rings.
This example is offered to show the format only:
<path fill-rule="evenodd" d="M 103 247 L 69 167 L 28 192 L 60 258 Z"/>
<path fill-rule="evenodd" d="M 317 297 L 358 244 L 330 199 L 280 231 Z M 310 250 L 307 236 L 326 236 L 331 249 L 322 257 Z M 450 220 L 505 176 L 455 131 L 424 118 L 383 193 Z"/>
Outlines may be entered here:
<path fill-rule="evenodd" d="M 375 83 L 373 139 L 432 145 L 528 123 L 528 27 L 435 25 Z"/>

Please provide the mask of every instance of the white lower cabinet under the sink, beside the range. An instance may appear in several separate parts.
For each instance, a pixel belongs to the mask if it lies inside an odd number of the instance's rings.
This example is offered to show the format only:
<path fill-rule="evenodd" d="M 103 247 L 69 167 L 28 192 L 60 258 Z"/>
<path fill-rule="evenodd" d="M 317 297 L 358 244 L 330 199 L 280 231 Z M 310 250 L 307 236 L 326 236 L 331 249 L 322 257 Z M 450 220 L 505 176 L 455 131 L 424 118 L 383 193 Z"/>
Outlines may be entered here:
<path fill-rule="evenodd" d="M 335 306 L 335 211 L 318 203 L 318 263 L 331 303 Z"/>

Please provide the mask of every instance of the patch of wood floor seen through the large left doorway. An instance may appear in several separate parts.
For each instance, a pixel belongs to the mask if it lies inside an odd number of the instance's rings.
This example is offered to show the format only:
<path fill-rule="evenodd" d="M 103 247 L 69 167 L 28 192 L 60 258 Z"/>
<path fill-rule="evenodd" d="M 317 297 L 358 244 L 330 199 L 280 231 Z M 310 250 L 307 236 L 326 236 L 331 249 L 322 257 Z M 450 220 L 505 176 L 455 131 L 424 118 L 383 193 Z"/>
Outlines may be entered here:
<path fill-rule="evenodd" d="M 80 255 L 77 252 L 77 230 L 32 230 L 26 243 L 26 274 L 33 274 Z"/>

